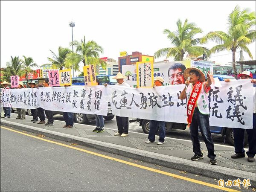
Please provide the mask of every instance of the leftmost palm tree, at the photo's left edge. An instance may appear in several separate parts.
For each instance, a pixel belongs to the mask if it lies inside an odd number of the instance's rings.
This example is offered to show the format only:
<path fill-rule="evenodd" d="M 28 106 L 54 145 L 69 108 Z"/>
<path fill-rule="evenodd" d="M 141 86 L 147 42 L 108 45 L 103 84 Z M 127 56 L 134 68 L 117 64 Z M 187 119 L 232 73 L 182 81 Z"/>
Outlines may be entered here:
<path fill-rule="evenodd" d="M 6 68 L 1 71 L 3 74 L 3 80 L 10 81 L 11 76 L 21 76 L 22 67 L 21 60 L 19 56 L 15 56 L 14 58 L 11 56 L 11 61 L 6 62 Z"/>

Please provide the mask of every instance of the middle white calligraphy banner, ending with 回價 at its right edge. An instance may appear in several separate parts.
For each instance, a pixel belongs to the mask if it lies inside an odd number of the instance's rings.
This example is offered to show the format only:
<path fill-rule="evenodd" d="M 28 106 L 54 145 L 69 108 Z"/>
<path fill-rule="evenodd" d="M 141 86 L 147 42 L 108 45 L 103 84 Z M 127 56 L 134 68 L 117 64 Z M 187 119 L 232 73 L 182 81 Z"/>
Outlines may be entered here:
<path fill-rule="evenodd" d="M 108 100 L 104 86 L 39 87 L 38 106 L 51 111 L 106 116 Z"/>

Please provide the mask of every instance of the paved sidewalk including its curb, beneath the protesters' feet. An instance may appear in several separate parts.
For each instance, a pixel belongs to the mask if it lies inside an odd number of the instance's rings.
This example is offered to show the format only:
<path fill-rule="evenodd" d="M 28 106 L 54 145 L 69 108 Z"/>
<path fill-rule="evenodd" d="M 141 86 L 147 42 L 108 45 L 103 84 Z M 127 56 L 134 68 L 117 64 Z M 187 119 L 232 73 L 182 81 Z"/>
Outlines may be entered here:
<path fill-rule="evenodd" d="M 188 140 L 166 137 L 163 145 L 157 145 L 156 142 L 147 144 L 147 134 L 135 133 L 129 131 L 128 137 L 114 136 L 117 129 L 105 128 L 102 133 L 92 132 L 95 126 L 81 125 L 74 123 L 73 128 L 62 128 L 65 122 L 54 120 L 54 125 L 47 127 L 44 124 L 33 123 L 30 120 L 32 116 L 26 116 L 26 119 L 15 119 L 17 114 L 12 113 L 11 118 L 1 118 L 1 126 L 10 126 L 38 134 L 44 134 L 47 137 L 58 140 L 69 141 L 108 151 L 114 154 L 120 154 L 126 157 L 143 160 L 161 166 L 195 173 L 196 175 L 205 175 L 215 179 L 224 179 L 225 181 L 239 178 L 250 179 L 252 186 L 256 185 L 256 163 L 247 161 L 247 156 L 239 159 L 232 159 L 234 154 L 233 146 L 215 145 L 215 154 L 217 165 L 209 164 L 207 157 L 207 148 L 204 143 L 201 144 L 204 153 L 204 159 L 192 161 L 190 158 L 194 155 L 192 143 Z"/>

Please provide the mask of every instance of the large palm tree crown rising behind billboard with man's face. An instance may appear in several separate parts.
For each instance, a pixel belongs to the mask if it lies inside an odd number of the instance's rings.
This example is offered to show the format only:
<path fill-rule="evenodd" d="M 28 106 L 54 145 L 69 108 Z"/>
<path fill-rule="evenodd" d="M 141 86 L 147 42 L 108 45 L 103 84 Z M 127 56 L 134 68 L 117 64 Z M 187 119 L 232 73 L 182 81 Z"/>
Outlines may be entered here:
<path fill-rule="evenodd" d="M 209 56 L 209 50 L 206 47 L 197 46 L 201 38 L 194 39 L 195 35 L 202 32 L 201 28 L 197 27 L 195 23 L 188 23 L 187 19 L 184 24 L 178 19 L 176 25 L 177 31 L 175 32 L 171 32 L 169 29 L 163 30 L 163 33 L 167 34 L 167 38 L 175 47 L 159 49 L 154 53 L 155 58 L 166 56 L 166 59 L 174 57 L 175 61 L 182 61 L 185 53 L 195 57 L 202 54 Z"/>

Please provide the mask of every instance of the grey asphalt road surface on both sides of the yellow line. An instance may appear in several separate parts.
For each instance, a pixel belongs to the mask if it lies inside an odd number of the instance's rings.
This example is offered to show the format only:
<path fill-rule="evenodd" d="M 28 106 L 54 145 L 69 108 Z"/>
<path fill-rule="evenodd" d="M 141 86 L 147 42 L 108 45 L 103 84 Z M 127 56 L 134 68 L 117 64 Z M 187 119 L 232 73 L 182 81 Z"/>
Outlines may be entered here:
<path fill-rule="evenodd" d="M 181 173 L 180 170 L 138 162 L 84 146 L 69 148 L 66 145 L 70 146 L 70 143 L 43 137 L 62 144 L 49 143 L 38 139 L 41 137 L 24 134 L 0 129 L 0 191 L 221 191 L 202 184 L 216 185 L 216 180 L 212 178 Z M 76 148 L 128 163 L 88 154 Z M 185 179 L 159 171 L 184 176 Z M 189 178 L 200 181 L 191 182 Z"/>

